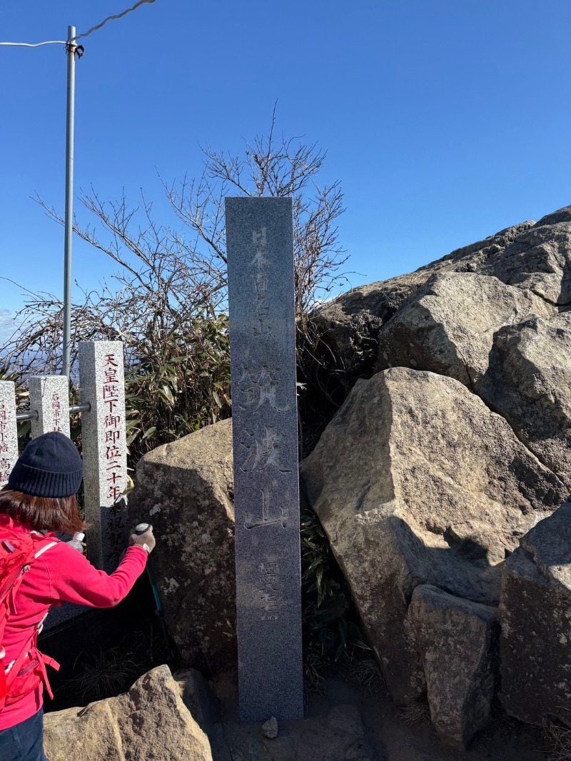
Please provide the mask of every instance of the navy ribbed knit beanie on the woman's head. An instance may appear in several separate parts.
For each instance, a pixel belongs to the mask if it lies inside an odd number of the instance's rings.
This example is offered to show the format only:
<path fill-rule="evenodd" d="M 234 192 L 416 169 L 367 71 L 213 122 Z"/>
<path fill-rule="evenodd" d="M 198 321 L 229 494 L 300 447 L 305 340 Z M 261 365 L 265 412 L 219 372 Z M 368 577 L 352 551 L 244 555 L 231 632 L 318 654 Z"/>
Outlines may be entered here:
<path fill-rule="evenodd" d="M 78 492 L 82 478 L 78 448 L 54 431 L 27 444 L 10 473 L 8 489 L 34 497 L 71 497 Z"/>

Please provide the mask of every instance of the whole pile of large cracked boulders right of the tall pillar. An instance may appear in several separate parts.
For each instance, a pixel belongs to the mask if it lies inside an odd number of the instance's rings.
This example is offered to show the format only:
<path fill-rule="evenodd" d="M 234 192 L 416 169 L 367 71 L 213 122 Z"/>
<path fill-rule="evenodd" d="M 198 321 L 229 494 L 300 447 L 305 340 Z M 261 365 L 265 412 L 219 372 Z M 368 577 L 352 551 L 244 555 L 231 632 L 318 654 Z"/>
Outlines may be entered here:
<path fill-rule="evenodd" d="M 571 695 L 568 580 L 541 567 L 548 532 L 534 526 L 560 521 L 549 516 L 571 490 L 571 207 L 353 289 L 318 317 L 344 367 L 376 374 L 301 472 L 394 700 L 428 691 L 441 737 L 470 741 L 490 712 L 504 578 L 504 705 L 559 716 L 548 696 Z M 444 667 L 454 642 L 469 657 Z"/>

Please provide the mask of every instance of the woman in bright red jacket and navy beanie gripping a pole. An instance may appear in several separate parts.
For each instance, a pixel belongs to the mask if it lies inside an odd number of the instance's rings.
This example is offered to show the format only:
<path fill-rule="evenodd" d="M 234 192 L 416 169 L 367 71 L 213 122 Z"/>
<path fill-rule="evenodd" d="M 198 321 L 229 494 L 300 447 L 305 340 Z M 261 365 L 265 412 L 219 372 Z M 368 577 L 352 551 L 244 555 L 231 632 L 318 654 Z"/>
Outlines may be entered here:
<path fill-rule="evenodd" d="M 75 496 L 82 477 L 75 444 L 61 433 L 48 433 L 27 444 L 0 491 L 0 537 L 5 527 L 17 535 L 27 534 L 37 548 L 36 559 L 14 595 L 0 642 L 0 668 L 7 675 L 12 667 L 18 673 L 12 675 L 0 709 L 2 761 L 46 761 L 42 706 L 43 683 L 49 691 L 50 659 L 37 650 L 36 640 L 49 607 L 64 602 L 113 607 L 129 593 L 155 546 L 152 528 L 141 536 L 133 534 L 119 568 L 107 575 L 77 549 L 57 540 L 56 531 L 85 528 Z"/>

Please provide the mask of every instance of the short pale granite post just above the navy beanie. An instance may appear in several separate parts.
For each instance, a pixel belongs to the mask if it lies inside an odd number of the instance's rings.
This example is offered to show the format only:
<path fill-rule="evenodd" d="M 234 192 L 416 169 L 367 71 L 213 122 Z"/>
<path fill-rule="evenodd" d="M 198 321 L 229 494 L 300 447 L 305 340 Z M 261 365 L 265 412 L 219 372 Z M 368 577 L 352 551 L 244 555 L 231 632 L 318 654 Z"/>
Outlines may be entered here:
<path fill-rule="evenodd" d="M 69 436 L 69 380 L 65 375 L 30 377 L 30 412 L 37 411 L 31 421 L 32 438 L 51 431 Z"/>

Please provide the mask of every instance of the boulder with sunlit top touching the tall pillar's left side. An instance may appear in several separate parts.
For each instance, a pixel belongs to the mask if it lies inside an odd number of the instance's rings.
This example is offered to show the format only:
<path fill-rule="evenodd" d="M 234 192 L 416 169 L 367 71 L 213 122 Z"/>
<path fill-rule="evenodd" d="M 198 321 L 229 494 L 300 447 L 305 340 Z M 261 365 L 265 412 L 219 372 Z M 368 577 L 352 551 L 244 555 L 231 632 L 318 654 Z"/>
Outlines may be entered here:
<path fill-rule="evenodd" d="M 218 673 L 237 662 L 231 420 L 145 454 L 129 499 L 149 521 L 167 629 L 183 666 Z"/>

